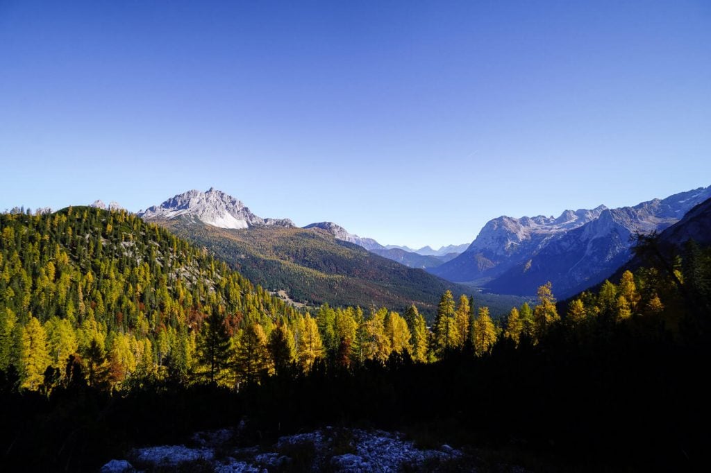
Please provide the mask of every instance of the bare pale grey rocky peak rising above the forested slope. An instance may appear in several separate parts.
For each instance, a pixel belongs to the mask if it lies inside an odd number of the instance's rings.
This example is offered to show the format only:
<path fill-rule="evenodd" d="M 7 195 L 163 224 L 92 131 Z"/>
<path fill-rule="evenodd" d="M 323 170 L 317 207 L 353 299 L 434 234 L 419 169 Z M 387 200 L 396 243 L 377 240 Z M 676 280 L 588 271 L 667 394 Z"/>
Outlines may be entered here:
<path fill-rule="evenodd" d="M 138 212 L 146 221 L 193 218 L 213 227 L 245 229 L 250 227 L 294 227 L 289 219 L 263 219 L 250 212 L 240 200 L 221 190 L 188 190 L 159 206 Z"/>

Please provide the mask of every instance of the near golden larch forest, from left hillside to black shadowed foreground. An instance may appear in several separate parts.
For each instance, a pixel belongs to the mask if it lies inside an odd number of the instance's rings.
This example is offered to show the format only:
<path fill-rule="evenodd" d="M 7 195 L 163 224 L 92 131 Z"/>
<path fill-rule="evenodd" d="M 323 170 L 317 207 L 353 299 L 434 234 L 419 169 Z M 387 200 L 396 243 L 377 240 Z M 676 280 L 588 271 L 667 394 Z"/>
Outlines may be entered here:
<path fill-rule="evenodd" d="M 705 246 L 641 241 L 645 264 L 619 283 L 568 303 L 546 284 L 501 322 L 444 290 L 427 327 L 415 306 L 312 317 L 127 212 L 2 214 L 0 236 L 0 458 L 14 469 L 96 469 L 135 442 L 240 421 L 255 442 L 365 423 L 563 470 L 691 467 L 711 445 Z"/>

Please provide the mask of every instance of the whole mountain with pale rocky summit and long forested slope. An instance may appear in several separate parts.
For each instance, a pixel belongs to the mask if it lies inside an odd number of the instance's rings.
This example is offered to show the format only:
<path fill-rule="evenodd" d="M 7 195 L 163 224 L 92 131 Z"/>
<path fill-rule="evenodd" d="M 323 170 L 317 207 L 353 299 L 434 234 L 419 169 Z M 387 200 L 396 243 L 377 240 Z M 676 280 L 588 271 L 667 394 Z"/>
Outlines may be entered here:
<path fill-rule="evenodd" d="M 264 219 L 215 189 L 176 195 L 139 216 L 205 246 L 253 283 L 274 292 L 283 290 L 299 303 L 395 310 L 414 303 L 432 314 L 444 290 L 471 292 L 471 288 L 367 251 L 367 246 L 374 251 L 384 248 L 336 224 L 299 228 L 289 219 Z M 496 300 L 488 303 L 496 304 Z M 502 304 L 510 305 L 510 300 Z"/>

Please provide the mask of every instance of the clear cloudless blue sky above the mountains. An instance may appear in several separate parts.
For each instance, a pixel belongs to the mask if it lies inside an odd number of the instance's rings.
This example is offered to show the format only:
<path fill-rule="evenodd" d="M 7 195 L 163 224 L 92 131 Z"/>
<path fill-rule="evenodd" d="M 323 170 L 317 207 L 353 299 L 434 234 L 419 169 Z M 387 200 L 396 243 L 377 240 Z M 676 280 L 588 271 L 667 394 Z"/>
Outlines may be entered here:
<path fill-rule="evenodd" d="M 0 210 L 216 187 L 438 247 L 711 185 L 711 2 L 0 0 Z"/>

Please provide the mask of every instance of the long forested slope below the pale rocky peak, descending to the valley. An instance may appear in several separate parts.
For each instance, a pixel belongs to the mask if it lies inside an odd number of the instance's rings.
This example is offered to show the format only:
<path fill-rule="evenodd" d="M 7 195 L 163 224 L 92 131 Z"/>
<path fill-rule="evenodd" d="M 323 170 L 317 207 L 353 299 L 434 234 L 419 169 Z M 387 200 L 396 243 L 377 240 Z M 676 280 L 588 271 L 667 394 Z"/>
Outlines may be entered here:
<path fill-rule="evenodd" d="M 185 218 L 156 223 L 205 246 L 250 281 L 271 291 L 285 290 L 293 300 L 309 305 L 328 302 L 403 310 L 414 303 L 431 314 L 447 288 L 471 292 L 339 241 L 323 229 L 220 229 Z"/>

